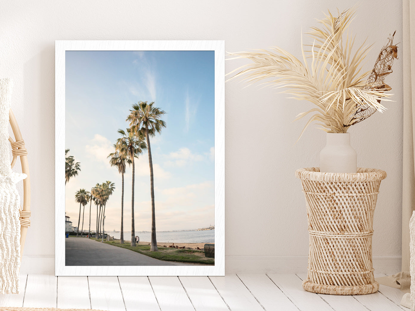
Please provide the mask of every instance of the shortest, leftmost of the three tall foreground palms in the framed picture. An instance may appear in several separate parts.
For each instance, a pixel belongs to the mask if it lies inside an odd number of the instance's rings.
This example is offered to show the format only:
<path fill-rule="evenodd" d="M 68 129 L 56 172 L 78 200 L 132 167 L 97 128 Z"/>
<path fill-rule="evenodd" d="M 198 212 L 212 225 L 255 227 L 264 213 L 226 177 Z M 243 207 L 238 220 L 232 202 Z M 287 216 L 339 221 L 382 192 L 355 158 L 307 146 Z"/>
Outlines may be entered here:
<path fill-rule="evenodd" d="M 115 152 L 110 153 L 107 158 L 110 158 L 111 166 L 118 168 L 118 173 L 121 174 L 122 186 L 121 186 L 121 236 L 120 244 L 124 244 L 124 174 L 126 164 L 130 165 L 131 160 L 128 155 L 127 145 L 124 142 L 120 143 L 120 146 L 114 144 Z"/>

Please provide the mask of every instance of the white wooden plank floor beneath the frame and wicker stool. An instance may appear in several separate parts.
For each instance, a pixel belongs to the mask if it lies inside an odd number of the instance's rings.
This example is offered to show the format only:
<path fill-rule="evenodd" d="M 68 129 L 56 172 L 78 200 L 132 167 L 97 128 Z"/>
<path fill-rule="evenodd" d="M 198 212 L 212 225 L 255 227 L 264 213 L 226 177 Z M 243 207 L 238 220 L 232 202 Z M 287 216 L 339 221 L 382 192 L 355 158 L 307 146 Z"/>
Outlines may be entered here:
<path fill-rule="evenodd" d="M 384 275 L 376 275 L 380 277 Z M 381 285 L 361 296 L 306 292 L 305 275 L 240 274 L 225 277 L 54 277 L 22 275 L 21 293 L 0 295 L 0 306 L 108 311 L 401 311 L 403 292 Z"/>

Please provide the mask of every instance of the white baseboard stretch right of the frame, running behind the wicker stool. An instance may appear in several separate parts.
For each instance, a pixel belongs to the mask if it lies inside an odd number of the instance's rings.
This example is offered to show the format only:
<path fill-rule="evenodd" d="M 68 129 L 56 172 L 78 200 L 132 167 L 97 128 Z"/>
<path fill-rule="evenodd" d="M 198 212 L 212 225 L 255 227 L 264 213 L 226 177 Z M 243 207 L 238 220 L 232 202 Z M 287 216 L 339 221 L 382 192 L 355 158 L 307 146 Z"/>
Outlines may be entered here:
<path fill-rule="evenodd" d="M 307 256 L 226 256 L 225 273 L 307 273 Z M 400 272 L 401 256 L 374 256 L 375 273 Z"/>

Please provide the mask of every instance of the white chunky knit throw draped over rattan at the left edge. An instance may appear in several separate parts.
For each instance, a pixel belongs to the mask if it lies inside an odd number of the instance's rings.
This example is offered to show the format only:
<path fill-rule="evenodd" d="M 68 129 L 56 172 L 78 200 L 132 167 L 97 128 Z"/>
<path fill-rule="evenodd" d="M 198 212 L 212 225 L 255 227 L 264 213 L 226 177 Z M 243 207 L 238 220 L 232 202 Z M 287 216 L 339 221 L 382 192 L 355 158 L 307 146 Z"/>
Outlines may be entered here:
<path fill-rule="evenodd" d="M 20 196 L 16 182 L 27 177 L 10 167 L 10 87 L 10 79 L 0 79 L 0 294 L 17 294 L 20 289 Z"/>

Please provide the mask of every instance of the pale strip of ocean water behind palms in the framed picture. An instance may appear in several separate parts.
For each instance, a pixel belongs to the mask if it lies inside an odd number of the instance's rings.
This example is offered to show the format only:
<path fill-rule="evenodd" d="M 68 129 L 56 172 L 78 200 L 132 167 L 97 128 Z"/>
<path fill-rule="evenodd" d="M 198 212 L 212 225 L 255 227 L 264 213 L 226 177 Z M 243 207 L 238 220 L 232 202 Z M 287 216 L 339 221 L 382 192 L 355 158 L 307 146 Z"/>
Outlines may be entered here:
<path fill-rule="evenodd" d="M 120 232 L 105 231 L 110 236 L 120 239 Z M 136 232 L 134 236 L 140 237 L 140 242 L 150 242 L 151 232 Z M 215 229 L 203 231 L 175 231 L 157 232 L 157 243 L 215 243 Z M 124 240 L 130 241 L 131 231 L 124 231 Z"/>

